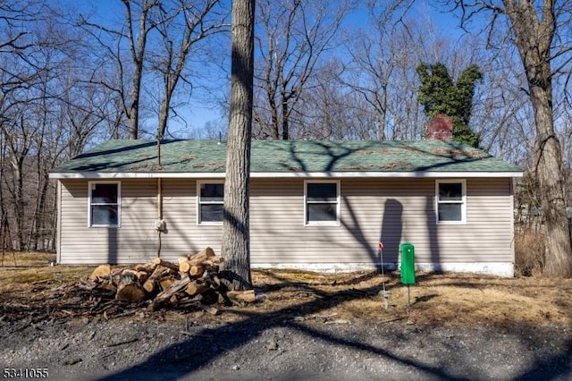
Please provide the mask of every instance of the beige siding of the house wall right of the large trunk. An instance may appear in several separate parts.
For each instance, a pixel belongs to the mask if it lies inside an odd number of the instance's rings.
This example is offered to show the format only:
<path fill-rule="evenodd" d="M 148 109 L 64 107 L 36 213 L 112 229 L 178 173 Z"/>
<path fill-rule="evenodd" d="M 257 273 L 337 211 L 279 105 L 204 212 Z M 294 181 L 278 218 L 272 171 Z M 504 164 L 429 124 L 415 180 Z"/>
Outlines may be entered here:
<path fill-rule="evenodd" d="M 510 179 L 467 180 L 467 223 L 437 224 L 434 179 L 341 179 L 341 226 L 304 226 L 304 181 L 253 179 L 252 263 L 511 262 Z"/>

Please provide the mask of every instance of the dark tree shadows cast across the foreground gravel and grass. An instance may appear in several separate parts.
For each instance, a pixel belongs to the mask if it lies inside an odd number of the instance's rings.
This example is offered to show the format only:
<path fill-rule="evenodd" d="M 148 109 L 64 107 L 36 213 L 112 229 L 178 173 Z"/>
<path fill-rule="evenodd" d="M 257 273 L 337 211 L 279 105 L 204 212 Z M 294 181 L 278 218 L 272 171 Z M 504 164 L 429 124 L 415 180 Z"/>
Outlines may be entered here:
<path fill-rule="evenodd" d="M 279 287 L 299 287 L 299 283 L 289 283 L 283 279 L 276 279 L 280 281 L 278 284 L 273 284 L 273 289 Z M 239 351 L 243 346 L 248 346 L 251 343 L 259 340 L 264 332 L 271 328 L 284 328 L 289 332 L 296 332 L 298 334 L 306 335 L 314 340 L 314 342 L 320 342 L 324 347 L 332 349 L 333 353 L 339 353 L 340 351 L 359 351 L 367 359 L 373 362 L 383 362 L 388 364 L 388 369 L 392 368 L 391 377 L 394 379 L 411 379 L 411 377 L 423 377 L 424 379 L 448 379 L 448 380 L 461 380 L 461 379 L 543 379 L 543 380 L 556 380 L 556 379 L 568 379 L 572 374 L 572 339 L 563 338 L 562 342 L 557 345 L 557 351 L 543 351 L 542 345 L 543 340 L 545 343 L 545 337 L 543 339 L 542 334 L 538 334 L 535 327 L 529 326 L 514 326 L 512 329 L 507 331 L 507 327 L 498 328 L 492 327 L 493 331 L 498 332 L 510 332 L 510 334 L 517 333 L 517 343 L 522 346 L 525 357 L 530 357 L 532 360 L 525 361 L 523 367 L 517 367 L 513 369 L 515 364 L 506 363 L 506 371 L 504 375 L 502 374 L 503 369 L 492 369 L 487 373 L 487 364 L 479 364 L 478 361 L 475 364 L 470 364 L 466 358 L 467 352 L 463 351 L 467 346 L 466 342 L 470 341 L 470 337 L 460 340 L 455 333 L 450 334 L 450 337 L 446 337 L 444 340 L 446 342 L 444 345 L 448 347 L 450 351 L 449 359 L 440 359 L 440 353 L 434 353 L 434 359 L 431 361 L 426 360 L 423 356 L 417 357 L 416 354 L 420 353 L 422 349 L 417 348 L 418 346 L 423 346 L 423 340 L 425 340 L 424 334 L 433 334 L 431 327 L 425 327 L 422 330 L 412 329 L 398 329 L 395 332 L 391 330 L 387 331 L 388 336 L 391 340 L 394 340 L 395 345 L 383 346 L 379 343 L 372 342 L 371 340 L 361 340 L 355 337 L 349 337 L 335 330 L 322 329 L 321 327 L 315 327 L 305 324 L 303 321 L 297 321 L 295 317 L 299 315 L 300 311 L 303 311 L 305 315 L 319 314 L 324 309 L 331 307 L 333 303 L 341 303 L 343 301 L 348 301 L 349 298 L 358 298 L 359 295 L 372 295 L 380 291 L 380 286 L 368 287 L 368 288 L 357 288 L 359 292 L 356 294 L 327 294 L 320 290 L 312 290 L 311 285 L 304 284 L 306 290 L 315 292 L 315 294 L 320 295 L 320 301 L 309 301 L 305 303 L 299 303 L 295 307 L 290 307 L 288 309 L 280 309 L 273 312 L 266 313 L 248 313 L 244 312 L 244 318 L 235 323 L 230 323 L 226 326 L 220 326 L 216 328 L 206 328 L 201 330 L 198 334 L 194 334 L 188 340 L 184 340 L 180 343 L 172 344 L 164 348 L 162 351 L 158 351 L 144 360 L 139 364 L 136 364 L 130 368 L 126 368 L 120 372 L 113 375 L 99 378 L 102 381 L 110 380 L 124 380 L 124 379 L 140 379 L 145 376 L 147 379 L 195 379 L 198 375 L 201 378 L 210 377 L 210 379 L 244 379 L 244 374 L 242 376 L 232 377 L 228 373 L 224 373 L 223 370 L 219 372 L 218 378 L 206 372 L 206 368 L 209 368 L 210 364 L 219 359 L 222 356 L 226 356 L 233 351 Z M 432 297 L 428 295 L 426 298 Z M 324 299 L 331 301 L 330 304 L 324 303 Z M 422 301 L 422 300 L 417 300 Z M 342 332 L 342 331 L 341 331 Z M 478 333 L 477 331 L 474 331 Z M 365 333 L 367 334 L 367 333 Z M 223 338 L 222 340 L 219 340 Z M 477 339 L 477 337 L 475 337 Z M 387 342 L 384 342 L 387 343 Z M 391 343 L 391 342 L 390 342 Z M 398 345 L 399 343 L 399 345 Z M 412 349 L 412 353 L 404 351 L 404 346 L 415 345 Z M 430 344 L 426 344 L 429 347 L 425 348 L 423 351 L 432 351 Z M 492 360 L 495 362 L 502 363 L 502 359 L 498 359 L 498 354 L 495 353 L 494 337 L 491 339 L 491 343 L 486 343 L 487 347 L 475 348 L 480 352 L 479 356 L 483 355 L 483 352 L 491 351 Z M 333 349 L 335 348 L 335 351 Z M 534 348 L 539 348 L 539 352 L 535 353 Z M 437 351 L 438 348 L 435 348 Z M 328 350 L 330 351 L 330 350 Z M 501 349 L 502 351 L 502 349 Z M 256 354 L 253 354 L 256 356 Z M 299 353 L 300 356 L 307 356 L 306 353 Z M 444 356 L 444 354 L 443 354 Z M 531 357 L 532 356 L 532 357 Z M 424 360 L 422 360 L 423 358 Z M 487 357 L 484 356 L 483 359 Z M 480 357 L 479 357 L 480 359 Z M 302 359 L 303 360 L 303 359 Z M 473 359 L 475 360 L 475 359 Z M 525 359 L 526 360 L 526 359 Z M 257 359 L 253 359 L 257 361 Z M 509 361 L 509 359 L 507 359 Z M 480 365 L 482 368 L 479 369 Z M 490 364 L 489 364 L 490 365 Z M 498 368 L 498 367 L 497 367 Z M 309 369 L 309 372 L 319 371 L 319 367 Z M 398 369 L 398 370 L 395 370 Z M 401 369 L 401 370 L 399 370 Z M 513 369 L 513 370 L 510 370 Z M 228 370 L 228 368 L 227 368 Z M 246 369 L 243 369 L 246 370 Z M 255 371 L 260 371 L 259 369 Z M 303 371 L 306 371 L 303 369 Z M 402 373 L 400 373 L 400 371 Z M 481 373 L 477 373 L 481 371 Z M 297 377 L 298 379 L 304 379 L 305 373 L 297 373 L 299 369 L 291 368 L 287 374 L 273 374 L 273 371 L 265 372 L 264 374 L 255 374 L 249 379 L 259 379 L 264 377 L 265 379 L 293 379 L 292 377 Z M 496 373 L 495 373 L 496 372 Z M 498 373 L 501 372 L 501 373 Z M 205 376 L 207 375 L 207 376 Z M 211 376 L 208 376 L 211 375 Z M 359 376 L 359 375 L 356 375 Z M 385 374 L 369 374 L 367 371 L 361 375 L 363 379 L 372 379 L 372 377 L 384 377 Z M 321 373 L 318 379 L 339 379 L 340 375 L 329 375 L 327 369 L 325 373 Z M 342 377 L 343 378 L 343 377 Z M 356 377 L 356 379 L 362 379 Z M 208 378 L 207 378 L 208 379 Z M 307 378 L 310 379 L 310 378 Z"/>

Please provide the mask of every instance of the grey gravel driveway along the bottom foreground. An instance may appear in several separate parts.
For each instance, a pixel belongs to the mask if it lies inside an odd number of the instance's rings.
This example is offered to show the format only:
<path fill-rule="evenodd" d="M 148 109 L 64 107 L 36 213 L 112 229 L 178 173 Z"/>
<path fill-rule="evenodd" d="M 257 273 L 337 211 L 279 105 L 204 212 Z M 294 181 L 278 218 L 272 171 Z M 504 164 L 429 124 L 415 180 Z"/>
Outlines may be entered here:
<path fill-rule="evenodd" d="M 328 323 L 0 322 L 0 365 L 3 379 L 572 380 L 570 326 Z"/>

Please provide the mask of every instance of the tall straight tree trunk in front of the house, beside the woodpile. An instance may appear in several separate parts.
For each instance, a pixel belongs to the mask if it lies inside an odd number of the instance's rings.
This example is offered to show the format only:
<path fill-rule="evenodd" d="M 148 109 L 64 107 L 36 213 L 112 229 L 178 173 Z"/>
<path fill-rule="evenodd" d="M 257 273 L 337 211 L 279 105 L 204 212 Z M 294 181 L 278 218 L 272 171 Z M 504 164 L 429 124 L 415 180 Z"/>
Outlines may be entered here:
<path fill-rule="evenodd" d="M 225 284 L 252 287 L 250 275 L 249 177 L 254 77 L 255 0 L 232 1 L 231 111 L 224 182 L 222 256 Z"/>

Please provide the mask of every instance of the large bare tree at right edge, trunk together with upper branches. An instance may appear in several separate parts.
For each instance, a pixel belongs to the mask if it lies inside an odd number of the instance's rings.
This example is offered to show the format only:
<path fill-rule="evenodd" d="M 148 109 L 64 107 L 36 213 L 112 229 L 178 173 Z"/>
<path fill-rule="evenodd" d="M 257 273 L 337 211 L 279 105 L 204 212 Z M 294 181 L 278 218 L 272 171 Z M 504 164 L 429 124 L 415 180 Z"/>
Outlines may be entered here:
<path fill-rule="evenodd" d="M 534 109 L 536 140 L 534 173 L 541 194 L 546 229 L 544 274 L 572 275 L 572 245 L 564 199 L 564 173 L 559 138 L 554 129 L 552 82 L 572 57 L 569 36 L 572 8 L 566 1 L 455 1 L 463 25 L 479 13 L 491 14 L 490 31 L 502 17 L 508 21 L 526 73 L 527 93 Z M 554 67 L 553 67 L 554 66 Z M 568 70 L 569 72 L 569 70 Z"/>

